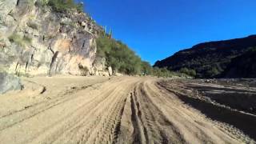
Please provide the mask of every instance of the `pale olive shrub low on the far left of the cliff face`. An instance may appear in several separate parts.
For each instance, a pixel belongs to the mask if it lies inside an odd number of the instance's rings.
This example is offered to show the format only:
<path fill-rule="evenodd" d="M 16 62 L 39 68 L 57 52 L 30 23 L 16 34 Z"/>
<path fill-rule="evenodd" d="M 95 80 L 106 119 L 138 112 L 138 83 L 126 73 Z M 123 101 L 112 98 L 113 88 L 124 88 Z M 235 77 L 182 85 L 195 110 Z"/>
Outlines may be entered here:
<path fill-rule="evenodd" d="M 24 47 L 31 43 L 32 38 L 29 38 L 26 36 L 22 37 L 21 35 L 18 35 L 18 34 L 12 34 L 10 35 L 9 40 L 10 42 L 15 42 L 19 46 Z"/>

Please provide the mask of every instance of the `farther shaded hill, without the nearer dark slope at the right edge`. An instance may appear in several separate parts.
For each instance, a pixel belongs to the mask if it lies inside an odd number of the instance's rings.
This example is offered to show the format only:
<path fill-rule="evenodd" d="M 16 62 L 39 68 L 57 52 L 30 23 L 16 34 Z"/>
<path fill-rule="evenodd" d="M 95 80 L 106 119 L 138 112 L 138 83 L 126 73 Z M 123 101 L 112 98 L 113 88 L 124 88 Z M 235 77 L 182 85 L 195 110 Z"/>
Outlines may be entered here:
<path fill-rule="evenodd" d="M 173 56 L 158 61 L 154 66 L 169 70 L 195 70 L 197 78 L 222 77 L 233 58 L 245 54 L 256 46 L 256 35 L 226 41 L 206 42 L 181 50 Z"/>

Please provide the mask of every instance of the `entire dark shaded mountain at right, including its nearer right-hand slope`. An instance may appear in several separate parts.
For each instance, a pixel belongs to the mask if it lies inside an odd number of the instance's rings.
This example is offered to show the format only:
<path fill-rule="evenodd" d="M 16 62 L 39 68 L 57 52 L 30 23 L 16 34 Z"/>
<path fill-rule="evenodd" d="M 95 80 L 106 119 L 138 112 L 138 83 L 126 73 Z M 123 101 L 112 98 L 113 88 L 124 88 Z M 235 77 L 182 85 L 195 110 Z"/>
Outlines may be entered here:
<path fill-rule="evenodd" d="M 206 42 L 181 50 L 154 66 L 167 67 L 168 70 L 195 70 L 196 78 L 256 78 L 253 74 L 255 47 L 256 35 Z"/>

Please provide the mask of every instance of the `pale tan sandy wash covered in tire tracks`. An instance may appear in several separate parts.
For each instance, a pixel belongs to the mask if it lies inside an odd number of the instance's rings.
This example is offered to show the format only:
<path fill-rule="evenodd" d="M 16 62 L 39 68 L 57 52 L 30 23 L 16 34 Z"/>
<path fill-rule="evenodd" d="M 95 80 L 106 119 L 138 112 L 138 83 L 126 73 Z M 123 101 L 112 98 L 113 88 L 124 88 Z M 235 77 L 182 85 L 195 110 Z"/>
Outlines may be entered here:
<path fill-rule="evenodd" d="M 193 91 L 182 82 L 139 77 L 22 81 L 24 90 L 0 95 L 1 144 L 254 143 L 253 134 L 183 101 Z"/>

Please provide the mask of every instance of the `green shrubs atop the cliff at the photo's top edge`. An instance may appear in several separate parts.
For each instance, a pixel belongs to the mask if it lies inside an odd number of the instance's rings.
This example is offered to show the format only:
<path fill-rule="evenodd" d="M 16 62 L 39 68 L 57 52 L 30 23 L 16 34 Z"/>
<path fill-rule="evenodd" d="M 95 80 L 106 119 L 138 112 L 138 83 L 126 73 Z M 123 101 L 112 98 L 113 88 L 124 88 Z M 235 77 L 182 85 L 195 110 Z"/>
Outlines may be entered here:
<path fill-rule="evenodd" d="M 74 0 L 49 0 L 47 5 L 51 6 L 57 12 L 66 12 L 70 10 L 83 11 L 82 3 L 77 4 Z"/>

